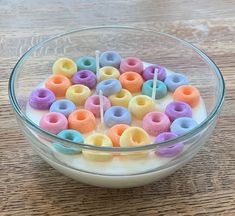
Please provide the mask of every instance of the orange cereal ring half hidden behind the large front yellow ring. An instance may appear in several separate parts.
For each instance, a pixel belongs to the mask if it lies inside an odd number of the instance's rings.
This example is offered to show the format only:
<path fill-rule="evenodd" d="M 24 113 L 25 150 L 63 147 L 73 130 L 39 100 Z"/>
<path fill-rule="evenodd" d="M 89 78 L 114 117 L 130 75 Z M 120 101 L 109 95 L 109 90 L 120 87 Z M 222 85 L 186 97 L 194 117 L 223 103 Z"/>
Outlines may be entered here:
<path fill-rule="evenodd" d="M 126 124 L 117 124 L 108 131 L 108 137 L 112 140 L 114 147 L 120 147 L 120 136 L 129 127 Z"/>

